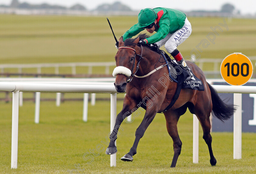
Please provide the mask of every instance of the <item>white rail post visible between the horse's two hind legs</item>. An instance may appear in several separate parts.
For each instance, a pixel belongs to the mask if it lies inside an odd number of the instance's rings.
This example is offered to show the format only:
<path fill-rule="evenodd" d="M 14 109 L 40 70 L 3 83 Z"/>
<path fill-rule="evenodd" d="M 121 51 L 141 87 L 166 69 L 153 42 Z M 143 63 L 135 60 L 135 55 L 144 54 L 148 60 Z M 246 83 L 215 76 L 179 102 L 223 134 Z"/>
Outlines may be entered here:
<path fill-rule="evenodd" d="M 198 163 L 198 151 L 199 151 L 198 131 L 199 131 L 199 121 L 197 119 L 197 116 L 193 114 L 193 163 Z"/>

